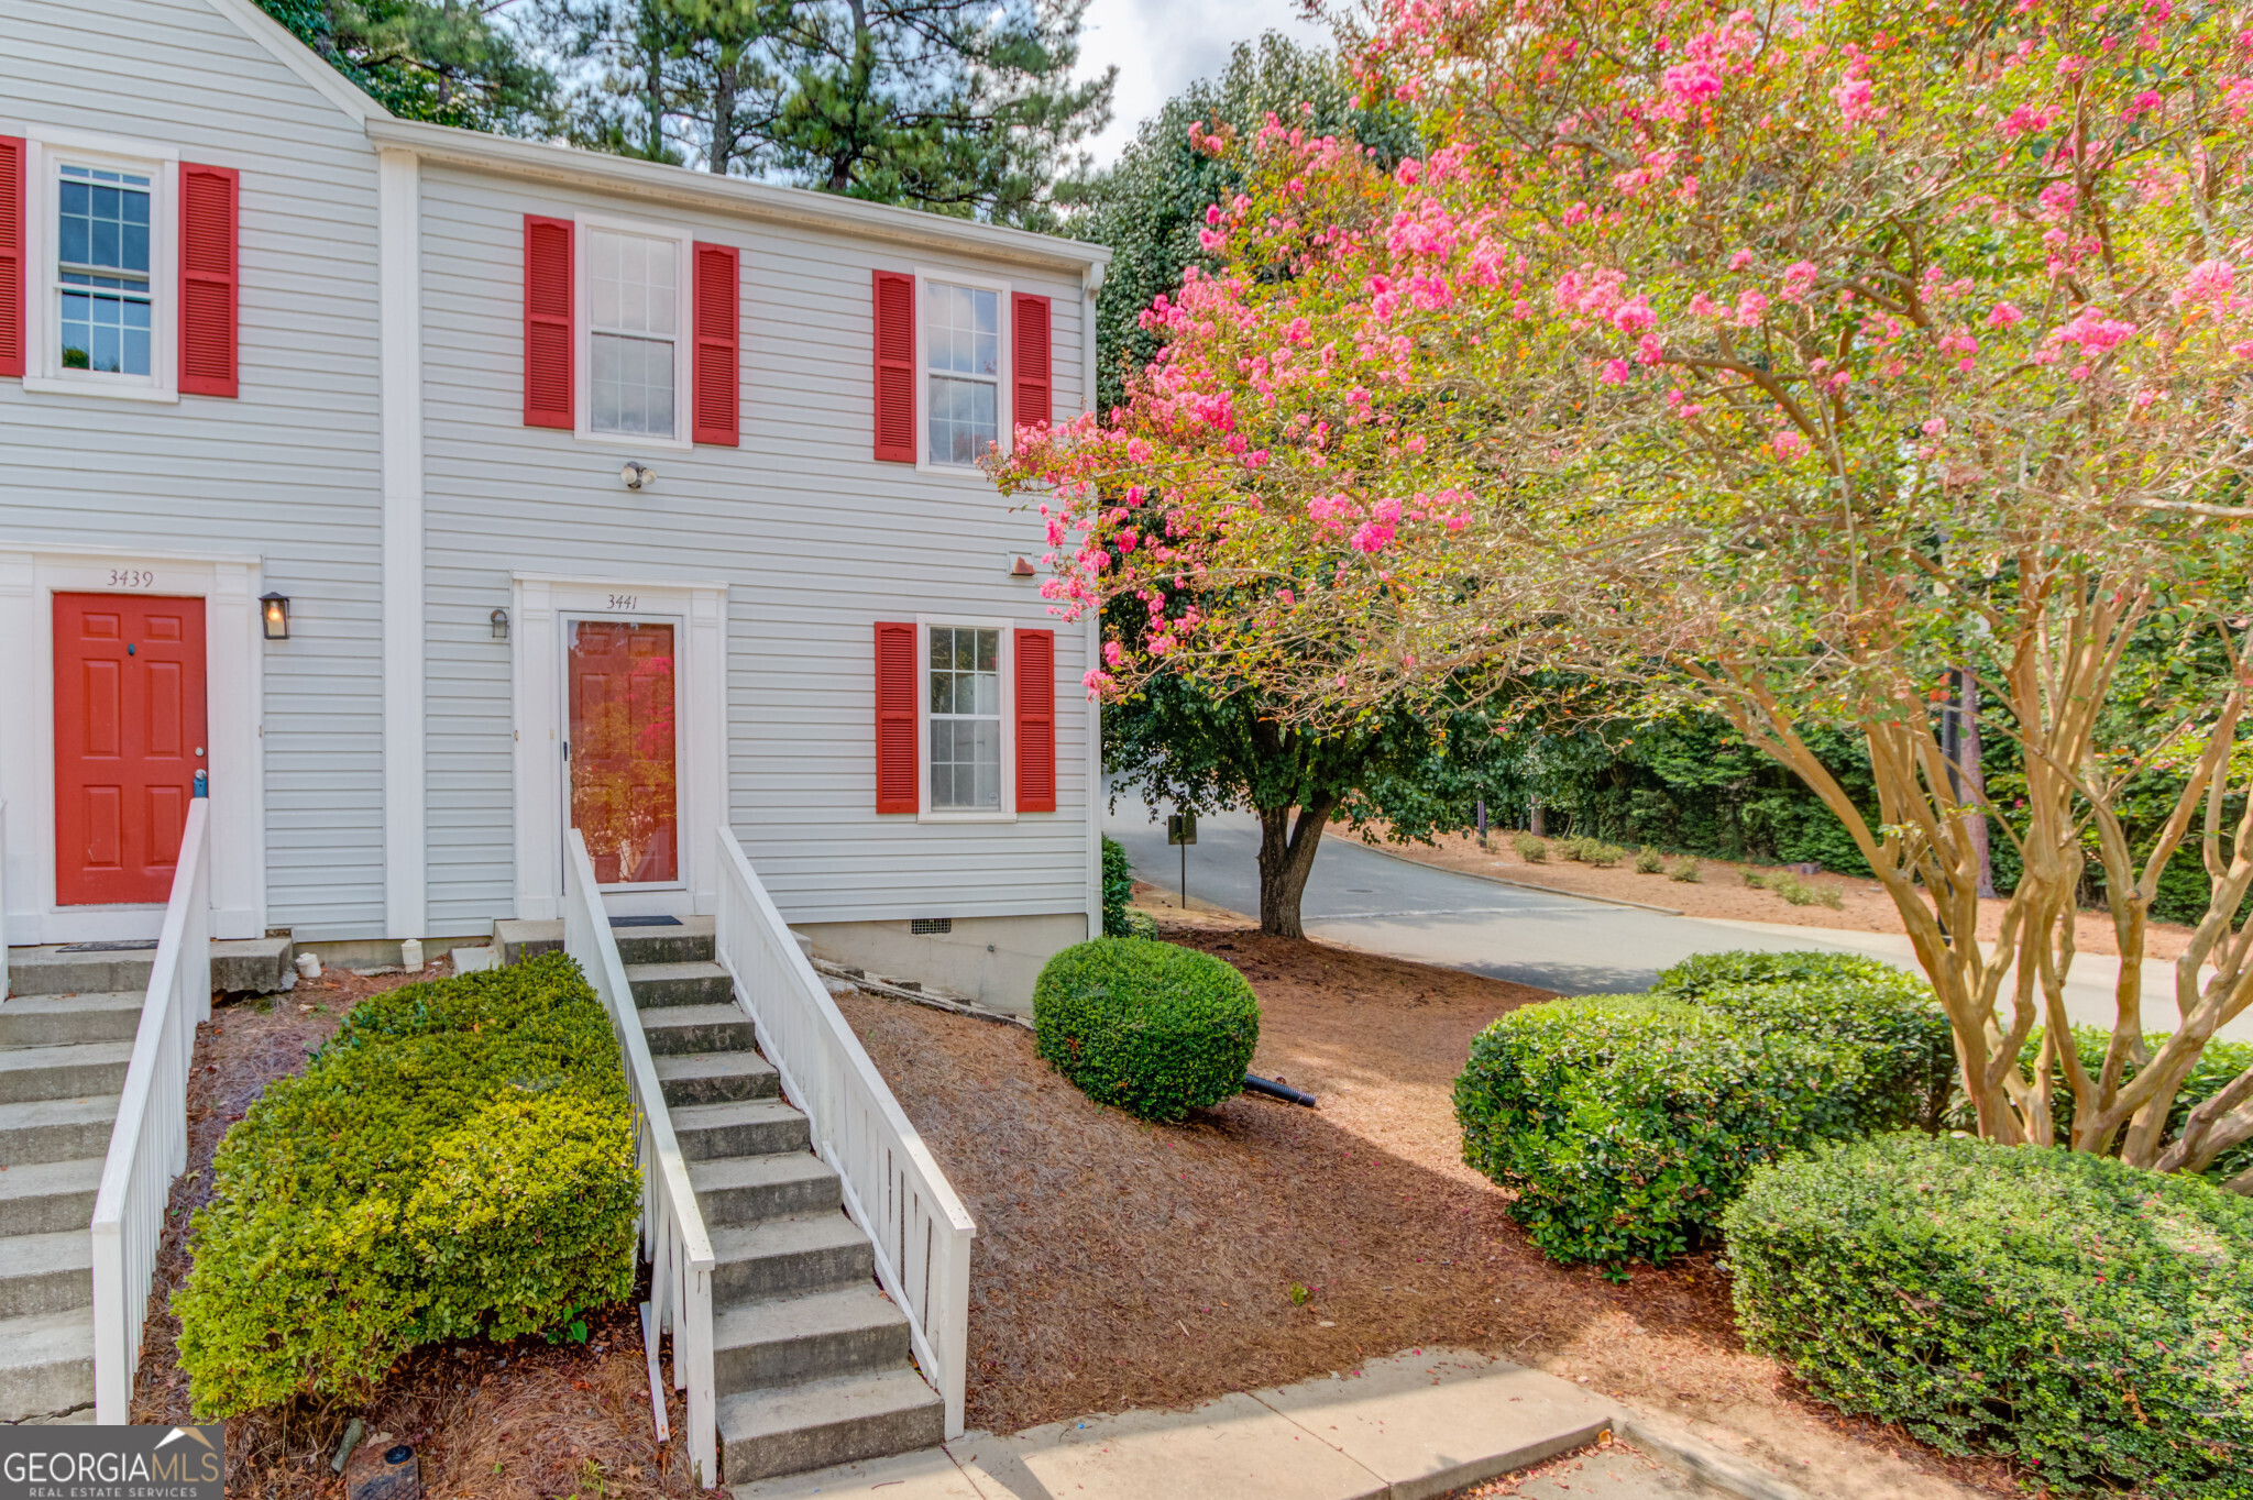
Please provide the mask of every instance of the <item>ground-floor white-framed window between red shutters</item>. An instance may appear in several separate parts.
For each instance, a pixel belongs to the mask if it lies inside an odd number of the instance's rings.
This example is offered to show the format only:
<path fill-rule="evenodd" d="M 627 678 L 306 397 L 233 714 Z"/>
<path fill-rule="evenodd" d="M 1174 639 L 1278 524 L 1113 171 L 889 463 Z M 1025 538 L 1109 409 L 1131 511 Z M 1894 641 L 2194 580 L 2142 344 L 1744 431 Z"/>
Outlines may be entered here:
<path fill-rule="evenodd" d="M 921 619 L 921 815 L 1014 822 L 1012 631 L 1000 619 Z"/>

